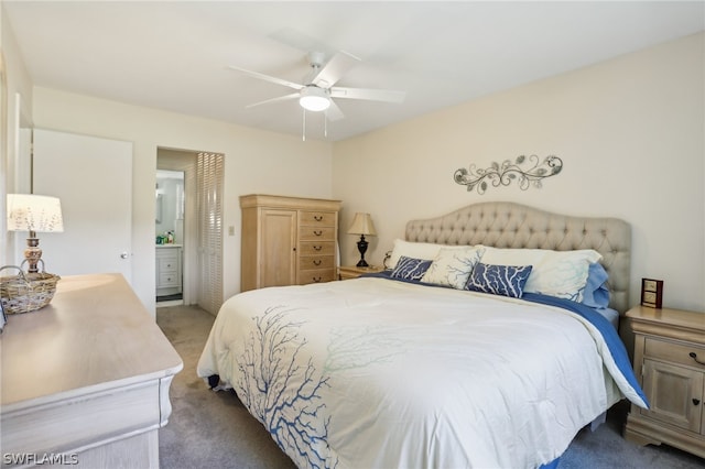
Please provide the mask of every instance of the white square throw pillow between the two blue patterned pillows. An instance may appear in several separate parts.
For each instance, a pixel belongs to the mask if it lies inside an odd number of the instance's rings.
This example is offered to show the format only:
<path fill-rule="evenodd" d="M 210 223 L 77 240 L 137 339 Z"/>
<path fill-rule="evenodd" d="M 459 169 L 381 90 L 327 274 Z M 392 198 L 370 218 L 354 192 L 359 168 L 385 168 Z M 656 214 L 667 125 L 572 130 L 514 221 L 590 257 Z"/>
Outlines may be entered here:
<path fill-rule="evenodd" d="M 482 252 L 482 247 L 442 248 L 421 281 L 463 290 Z"/>

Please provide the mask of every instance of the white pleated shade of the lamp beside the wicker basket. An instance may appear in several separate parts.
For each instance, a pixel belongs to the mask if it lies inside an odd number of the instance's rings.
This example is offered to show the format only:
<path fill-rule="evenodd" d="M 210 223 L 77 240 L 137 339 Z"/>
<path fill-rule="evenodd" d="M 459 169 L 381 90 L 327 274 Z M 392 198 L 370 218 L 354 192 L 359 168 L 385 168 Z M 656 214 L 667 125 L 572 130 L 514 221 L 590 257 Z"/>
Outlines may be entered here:
<path fill-rule="evenodd" d="M 8 230 L 64 231 L 61 200 L 34 194 L 8 194 Z"/>

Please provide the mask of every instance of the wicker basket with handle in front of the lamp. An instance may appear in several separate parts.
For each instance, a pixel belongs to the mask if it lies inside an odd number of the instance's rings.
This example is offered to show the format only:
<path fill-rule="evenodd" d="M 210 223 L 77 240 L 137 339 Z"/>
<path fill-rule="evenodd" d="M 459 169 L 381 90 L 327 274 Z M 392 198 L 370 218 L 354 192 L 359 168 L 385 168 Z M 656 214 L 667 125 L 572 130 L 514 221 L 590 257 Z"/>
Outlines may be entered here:
<path fill-rule="evenodd" d="M 58 275 L 44 272 L 25 273 L 17 265 L 4 265 L 4 269 L 15 269 L 17 275 L 0 276 L 0 301 L 6 314 L 30 313 L 43 308 L 52 301 L 56 292 Z"/>

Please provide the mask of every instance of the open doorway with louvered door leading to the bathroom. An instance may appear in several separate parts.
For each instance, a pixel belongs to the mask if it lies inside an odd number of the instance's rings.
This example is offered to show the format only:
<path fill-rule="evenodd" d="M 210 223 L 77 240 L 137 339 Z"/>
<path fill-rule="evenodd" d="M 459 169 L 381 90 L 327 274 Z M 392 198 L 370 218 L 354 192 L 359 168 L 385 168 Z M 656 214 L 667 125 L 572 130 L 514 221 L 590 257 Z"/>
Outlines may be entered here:
<path fill-rule="evenodd" d="M 215 316 L 223 304 L 224 165 L 225 155 L 220 153 L 158 149 L 158 186 L 160 174 L 171 175 L 174 178 L 183 175 L 183 196 L 178 198 L 177 188 L 171 201 L 162 195 L 161 215 L 164 221 L 166 217 L 181 217 L 181 220 L 175 218 L 173 228 L 165 222 L 160 225 L 155 219 L 156 254 L 173 259 L 173 254 L 178 254 L 177 251 L 181 251 L 181 299 L 164 297 L 161 299 L 165 301 L 159 301 L 160 293 L 177 293 L 158 288 L 156 307 L 177 304 L 198 305 Z M 173 185 L 177 186 L 178 183 Z M 163 188 L 165 193 L 166 185 Z M 159 196 L 159 187 L 156 196 Z M 155 212 L 160 215 L 159 197 L 155 198 Z M 166 204 L 170 206 L 166 207 Z M 169 242 L 170 230 L 173 230 L 171 243 Z M 165 240 L 165 244 L 159 244 L 160 236 Z M 155 262 L 158 275 L 161 275 L 159 270 L 164 262 L 160 262 L 159 259 Z M 173 265 L 169 266 L 172 272 L 173 268 Z M 169 282 L 169 275 L 163 280 Z M 159 277 L 156 285 L 160 286 Z"/>

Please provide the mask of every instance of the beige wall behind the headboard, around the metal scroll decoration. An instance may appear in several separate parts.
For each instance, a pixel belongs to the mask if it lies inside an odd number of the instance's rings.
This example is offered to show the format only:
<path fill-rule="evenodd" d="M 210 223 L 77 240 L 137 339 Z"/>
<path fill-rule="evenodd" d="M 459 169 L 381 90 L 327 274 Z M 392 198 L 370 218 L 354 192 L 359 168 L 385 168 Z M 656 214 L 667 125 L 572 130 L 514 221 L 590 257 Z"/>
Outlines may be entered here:
<path fill-rule="evenodd" d="M 626 219 L 631 303 L 646 276 L 665 281 L 666 306 L 705 310 L 704 43 L 685 37 L 336 143 L 343 263 L 358 259 L 345 234 L 355 211 L 373 217 L 366 259 L 380 263 L 409 219 L 513 200 Z M 520 154 L 555 154 L 564 170 L 525 192 L 478 195 L 453 181 L 459 167 Z"/>

